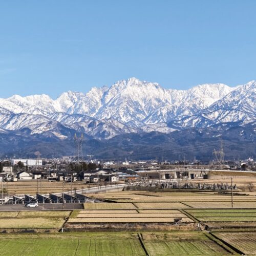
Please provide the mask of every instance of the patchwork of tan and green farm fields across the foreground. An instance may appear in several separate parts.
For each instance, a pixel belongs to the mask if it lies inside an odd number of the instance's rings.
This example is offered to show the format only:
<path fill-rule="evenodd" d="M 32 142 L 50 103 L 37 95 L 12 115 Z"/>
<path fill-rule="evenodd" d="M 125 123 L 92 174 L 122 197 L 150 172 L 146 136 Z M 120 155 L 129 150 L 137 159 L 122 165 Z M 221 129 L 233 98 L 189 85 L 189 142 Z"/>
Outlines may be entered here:
<path fill-rule="evenodd" d="M 37 232 L 0 233 L 0 254 L 256 254 L 256 197 L 252 195 L 233 196 L 233 208 L 229 195 L 207 191 L 119 191 L 93 196 L 110 202 L 84 203 L 83 209 L 73 211 L 0 211 L 0 229 Z M 49 229 L 54 233 L 46 233 Z"/>

